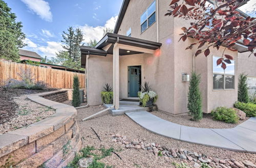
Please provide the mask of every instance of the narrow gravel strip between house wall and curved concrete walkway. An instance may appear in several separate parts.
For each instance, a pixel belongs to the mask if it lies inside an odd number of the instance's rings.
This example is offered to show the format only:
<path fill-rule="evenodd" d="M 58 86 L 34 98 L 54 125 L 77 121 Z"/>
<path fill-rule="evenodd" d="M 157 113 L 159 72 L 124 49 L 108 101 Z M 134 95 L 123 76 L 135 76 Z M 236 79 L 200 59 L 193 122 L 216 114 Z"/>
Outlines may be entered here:
<path fill-rule="evenodd" d="M 239 120 L 237 124 L 231 124 L 223 121 L 215 121 L 212 119 L 210 114 L 203 114 L 203 119 L 197 122 L 191 121 L 191 117 L 189 115 L 172 116 L 161 111 L 153 111 L 152 114 L 176 124 L 199 128 L 233 128 L 249 119 L 249 117 L 246 117 L 245 120 Z"/>

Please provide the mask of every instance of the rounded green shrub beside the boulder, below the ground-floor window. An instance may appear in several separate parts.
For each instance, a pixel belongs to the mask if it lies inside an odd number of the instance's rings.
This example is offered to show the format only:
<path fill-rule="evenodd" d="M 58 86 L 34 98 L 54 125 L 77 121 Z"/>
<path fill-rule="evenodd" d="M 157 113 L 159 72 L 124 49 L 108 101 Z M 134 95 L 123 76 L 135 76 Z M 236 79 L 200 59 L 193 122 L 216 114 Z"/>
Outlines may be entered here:
<path fill-rule="evenodd" d="M 237 123 L 239 117 L 235 110 L 227 107 L 217 107 L 211 111 L 214 120 L 224 121 L 225 123 Z"/>

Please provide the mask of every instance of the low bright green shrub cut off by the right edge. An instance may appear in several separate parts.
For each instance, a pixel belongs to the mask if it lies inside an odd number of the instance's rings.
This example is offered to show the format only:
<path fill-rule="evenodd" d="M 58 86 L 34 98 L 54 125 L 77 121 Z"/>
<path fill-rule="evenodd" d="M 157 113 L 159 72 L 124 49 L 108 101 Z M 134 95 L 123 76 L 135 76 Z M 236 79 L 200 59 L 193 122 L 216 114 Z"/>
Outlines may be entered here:
<path fill-rule="evenodd" d="M 256 104 L 254 103 L 242 103 L 237 101 L 234 103 L 234 107 L 244 111 L 246 117 L 256 117 Z"/>

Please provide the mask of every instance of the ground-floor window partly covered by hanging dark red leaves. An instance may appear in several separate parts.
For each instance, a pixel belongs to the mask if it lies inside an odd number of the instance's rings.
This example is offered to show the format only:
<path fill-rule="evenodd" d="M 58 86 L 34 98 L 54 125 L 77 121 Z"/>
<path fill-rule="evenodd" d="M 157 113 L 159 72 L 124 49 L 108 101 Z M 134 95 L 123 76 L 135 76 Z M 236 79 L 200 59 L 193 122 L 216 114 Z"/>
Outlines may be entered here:
<path fill-rule="evenodd" d="M 217 60 L 221 57 L 212 56 L 212 77 L 214 90 L 234 89 L 234 61 L 230 60 L 230 64 L 226 63 L 224 70 L 220 65 L 217 65 Z"/>

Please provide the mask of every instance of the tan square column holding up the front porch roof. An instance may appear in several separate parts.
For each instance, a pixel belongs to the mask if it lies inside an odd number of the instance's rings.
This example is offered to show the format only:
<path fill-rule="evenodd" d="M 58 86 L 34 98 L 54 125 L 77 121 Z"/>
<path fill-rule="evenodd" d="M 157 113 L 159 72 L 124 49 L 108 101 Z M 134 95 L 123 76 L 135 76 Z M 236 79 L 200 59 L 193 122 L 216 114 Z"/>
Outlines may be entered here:
<path fill-rule="evenodd" d="M 119 46 L 117 43 L 113 49 L 113 88 L 115 109 L 119 109 Z"/>

